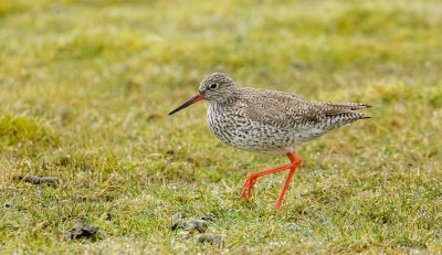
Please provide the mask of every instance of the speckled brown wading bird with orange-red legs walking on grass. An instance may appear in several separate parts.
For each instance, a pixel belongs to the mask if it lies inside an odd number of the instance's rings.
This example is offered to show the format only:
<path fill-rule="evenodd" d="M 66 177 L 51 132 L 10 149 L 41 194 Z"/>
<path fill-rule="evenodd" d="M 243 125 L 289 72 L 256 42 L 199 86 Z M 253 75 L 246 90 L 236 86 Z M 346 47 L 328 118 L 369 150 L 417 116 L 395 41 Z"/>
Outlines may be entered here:
<path fill-rule="evenodd" d="M 225 73 L 215 72 L 199 84 L 198 93 L 169 113 L 200 100 L 209 102 L 207 124 L 223 142 L 239 149 L 265 155 L 286 155 L 290 163 L 246 176 L 240 198 L 249 200 L 256 179 L 288 170 L 274 208 L 281 209 L 296 168 L 302 163 L 296 149 L 343 125 L 370 116 L 356 111 L 365 103 L 309 100 L 291 93 L 239 87 Z"/>

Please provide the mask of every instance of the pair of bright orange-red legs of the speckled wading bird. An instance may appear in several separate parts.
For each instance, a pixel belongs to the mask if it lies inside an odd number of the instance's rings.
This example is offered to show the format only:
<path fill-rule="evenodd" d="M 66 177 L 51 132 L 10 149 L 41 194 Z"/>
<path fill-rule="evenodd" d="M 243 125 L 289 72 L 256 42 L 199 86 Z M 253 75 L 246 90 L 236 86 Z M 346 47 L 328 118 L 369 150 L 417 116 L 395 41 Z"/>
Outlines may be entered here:
<path fill-rule="evenodd" d="M 292 152 L 292 151 L 287 152 L 287 157 L 291 160 L 291 162 L 287 164 L 248 174 L 248 178 L 244 181 L 240 196 L 245 200 L 249 200 L 249 198 L 252 193 L 253 184 L 256 182 L 256 179 L 259 177 L 288 169 L 288 174 L 284 181 L 283 187 L 281 188 L 280 194 L 277 195 L 277 200 L 275 203 L 275 208 L 280 209 L 281 203 L 283 202 L 285 191 L 287 190 L 288 184 L 292 180 L 292 177 L 295 173 L 296 168 L 301 164 L 301 158 L 295 152 Z"/>

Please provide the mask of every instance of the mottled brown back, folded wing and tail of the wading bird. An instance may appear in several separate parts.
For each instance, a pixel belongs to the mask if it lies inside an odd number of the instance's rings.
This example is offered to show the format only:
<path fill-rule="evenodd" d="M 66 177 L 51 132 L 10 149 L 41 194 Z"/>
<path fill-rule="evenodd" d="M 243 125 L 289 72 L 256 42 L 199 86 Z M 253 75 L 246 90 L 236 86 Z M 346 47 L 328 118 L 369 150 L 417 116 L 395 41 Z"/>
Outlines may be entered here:
<path fill-rule="evenodd" d="M 240 89 L 249 118 L 284 129 L 311 126 L 328 129 L 369 118 L 364 113 L 355 111 L 370 107 L 367 104 L 316 102 L 278 91 Z"/>

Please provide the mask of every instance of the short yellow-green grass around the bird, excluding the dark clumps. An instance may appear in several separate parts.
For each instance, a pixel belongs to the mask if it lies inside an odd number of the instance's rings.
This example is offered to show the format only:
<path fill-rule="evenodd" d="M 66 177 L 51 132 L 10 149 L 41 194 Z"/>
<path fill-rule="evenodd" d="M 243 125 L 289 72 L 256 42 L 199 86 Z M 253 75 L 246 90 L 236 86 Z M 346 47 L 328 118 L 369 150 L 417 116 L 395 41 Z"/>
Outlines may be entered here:
<path fill-rule="evenodd" d="M 439 1 L 0 2 L 0 248 L 21 253 L 440 253 Z M 284 157 L 230 148 L 204 104 L 167 113 L 199 79 L 366 102 L 372 119 Z M 24 174 L 55 176 L 32 185 Z M 172 215 L 211 215 L 224 245 L 180 240 Z M 110 220 L 109 216 L 110 215 Z M 78 219 L 96 241 L 63 241 Z"/>

